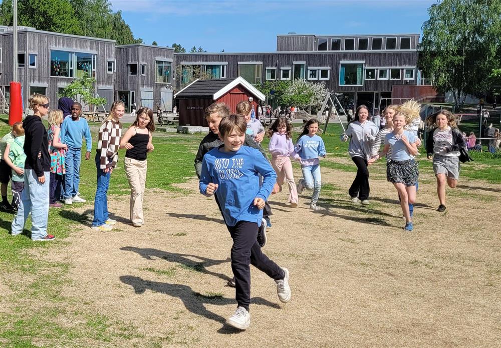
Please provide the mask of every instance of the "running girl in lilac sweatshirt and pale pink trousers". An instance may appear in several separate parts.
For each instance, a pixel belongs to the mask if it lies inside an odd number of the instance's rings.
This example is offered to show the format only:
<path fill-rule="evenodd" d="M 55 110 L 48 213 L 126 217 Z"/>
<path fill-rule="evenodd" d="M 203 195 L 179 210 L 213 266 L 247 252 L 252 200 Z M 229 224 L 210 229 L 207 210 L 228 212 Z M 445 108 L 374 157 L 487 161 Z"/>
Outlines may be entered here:
<path fill-rule="evenodd" d="M 268 136 L 271 137 L 268 150 L 272 154 L 272 166 L 277 173 L 277 184 L 282 191 L 284 179 L 287 181 L 290 192 L 287 202 L 291 204 L 291 207 L 296 208 L 298 206 L 298 191 L 291 163 L 291 156 L 294 153 L 292 130 L 292 124 L 285 117 L 276 119 L 268 130 Z"/>

